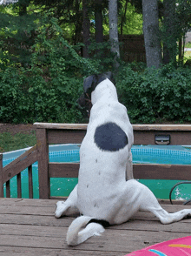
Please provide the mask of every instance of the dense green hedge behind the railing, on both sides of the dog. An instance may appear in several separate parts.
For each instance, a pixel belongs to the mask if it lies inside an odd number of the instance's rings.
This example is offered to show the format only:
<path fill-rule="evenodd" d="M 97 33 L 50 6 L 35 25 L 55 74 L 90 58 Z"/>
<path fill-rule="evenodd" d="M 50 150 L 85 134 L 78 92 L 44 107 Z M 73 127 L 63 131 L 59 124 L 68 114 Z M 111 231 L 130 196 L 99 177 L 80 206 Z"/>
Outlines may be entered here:
<path fill-rule="evenodd" d="M 68 54 L 68 53 L 67 53 Z M 66 57 L 49 57 L 49 66 L 30 70 L 8 68 L 0 72 L 0 122 L 83 123 L 76 99 L 82 93 L 85 72 Z M 71 57 L 69 61 L 71 61 Z M 79 65 L 79 64 L 78 64 Z M 119 101 L 126 105 L 132 123 L 191 122 L 191 72 L 165 66 L 134 71 L 121 65 L 115 75 Z M 73 70 L 73 74 L 72 74 Z M 138 68 L 136 69 L 138 70 Z M 93 71 L 92 71 L 93 73 Z"/>

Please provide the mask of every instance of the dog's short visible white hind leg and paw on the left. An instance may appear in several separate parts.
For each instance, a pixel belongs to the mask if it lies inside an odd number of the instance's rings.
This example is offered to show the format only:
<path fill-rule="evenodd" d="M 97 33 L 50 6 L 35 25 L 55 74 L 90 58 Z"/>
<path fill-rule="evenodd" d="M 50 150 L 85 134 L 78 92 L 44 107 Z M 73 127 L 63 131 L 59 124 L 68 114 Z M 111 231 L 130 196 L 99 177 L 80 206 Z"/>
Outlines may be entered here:
<path fill-rule="evenodd" d="M 58 201 L 56 203 L 55 217 L 60 218 L 61 216 L 71 216 L 79 213 L 77 208 L 77 185 L 69 194 L 69 198 L 66 201 Z"/>

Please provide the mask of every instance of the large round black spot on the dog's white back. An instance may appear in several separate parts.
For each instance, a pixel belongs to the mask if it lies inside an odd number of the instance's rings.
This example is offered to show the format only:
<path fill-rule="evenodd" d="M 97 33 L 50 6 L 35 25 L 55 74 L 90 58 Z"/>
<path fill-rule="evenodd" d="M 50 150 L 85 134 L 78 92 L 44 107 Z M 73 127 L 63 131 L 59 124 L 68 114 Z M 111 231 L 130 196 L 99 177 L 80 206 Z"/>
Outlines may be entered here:
<path fill-rule="evenodd" d="M 128 137 L 115 123 L 100 125 L 95 130 L 95 144 L 102 151 L 116 152 L 128 145 Z"/>

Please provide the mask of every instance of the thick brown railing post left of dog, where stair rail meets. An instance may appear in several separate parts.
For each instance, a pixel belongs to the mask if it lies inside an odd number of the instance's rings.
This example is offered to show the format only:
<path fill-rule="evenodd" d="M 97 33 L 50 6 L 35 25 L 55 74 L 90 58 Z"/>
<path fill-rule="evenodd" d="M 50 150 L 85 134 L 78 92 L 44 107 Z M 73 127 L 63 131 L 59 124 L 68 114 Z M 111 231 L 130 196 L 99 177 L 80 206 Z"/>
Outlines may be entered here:
<path fill-rule="evenodd" d="M 36 129 L 37 149 L 38 149 L 38 179 L 39 198 L 49 199 L 49 145 L 47 140 L 47 130 L 45 128 Z"/>

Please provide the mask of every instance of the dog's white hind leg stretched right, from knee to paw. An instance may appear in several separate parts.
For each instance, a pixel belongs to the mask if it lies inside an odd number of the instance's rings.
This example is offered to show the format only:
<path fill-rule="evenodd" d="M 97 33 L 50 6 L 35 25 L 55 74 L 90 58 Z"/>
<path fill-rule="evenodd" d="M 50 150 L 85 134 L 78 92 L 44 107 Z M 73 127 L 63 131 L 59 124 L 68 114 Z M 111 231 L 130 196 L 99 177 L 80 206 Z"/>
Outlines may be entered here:
<path fill-rule="evenodd" d="M 191 217 L 191 209 L 184 209 L 179 212 L 169 213 L 165 211 L 147 186 L 142 189 L 142 204 L 140 210 L 153 212 L 162 224 L 170 224 Z"/>

